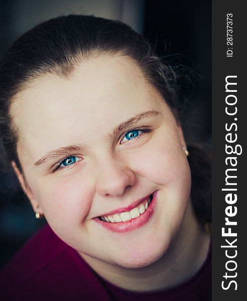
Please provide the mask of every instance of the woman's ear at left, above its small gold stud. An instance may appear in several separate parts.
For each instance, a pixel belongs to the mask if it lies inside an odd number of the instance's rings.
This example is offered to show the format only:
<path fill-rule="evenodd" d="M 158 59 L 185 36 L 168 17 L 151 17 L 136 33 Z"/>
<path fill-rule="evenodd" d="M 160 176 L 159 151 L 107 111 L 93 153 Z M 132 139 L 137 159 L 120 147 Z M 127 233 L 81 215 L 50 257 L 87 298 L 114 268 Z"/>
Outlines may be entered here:
<path fill-rule="evenodd" d="M 39 214 L 43 214 L 42 209 L 40 208 L 39 203 L 37 202 L 37 200 L 35 199 L 32 190 L 30 189 L 24 175 L 21 173 L 21 171 L 19 170 L 19 168 L 17 167 L 15 161 L 11 162 L 11 165 L 14 169 L 15 174 L 17 175 L 17 178 L 21 184 L 21 187 L 24 191 L 24 193 L 26 194 L 26 196 L 28 197 L 28 199 L 30 200 L 30 203 L 34 209 L 34 211 Z"/>

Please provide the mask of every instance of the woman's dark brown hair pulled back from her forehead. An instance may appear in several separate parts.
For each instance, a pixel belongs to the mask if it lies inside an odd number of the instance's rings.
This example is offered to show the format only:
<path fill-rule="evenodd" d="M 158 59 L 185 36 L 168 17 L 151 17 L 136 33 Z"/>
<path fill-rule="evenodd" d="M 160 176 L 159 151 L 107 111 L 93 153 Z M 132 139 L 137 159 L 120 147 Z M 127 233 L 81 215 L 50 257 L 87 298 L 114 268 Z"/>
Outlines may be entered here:
<path fill-rule="evenodd" d="M 14 160 L 20 169 L 16 151 L 18 129 L 10 115 L 14 97 L 38 77 L 55 75 L 68 78 L 83 60 L 102 54 L 119 54 L 135 60 L 145 78 L 160 91 L 179 122 L 179 79 L 185 75 L 177 72 L 176 68 L 180 67 L 172 68 L 164 59 L 159 58 L 151 44 L 141 35 L 121 22 L 93 16 L 70 15 L 51 19 L 21 36 L 0 62 L 2 143 L 9 159 Z M 195 155 L 197 154 L 191 153 L 189 158 Z M 190 164 L 193 176 L 191 160 Z M 198 171 L 196 175 L 197 173 Z M 200 174 L 203 173 L 200 171 Z M 203 186 L 205 181 L 202 178 L 200 181 L 202 182 L 199 184 Z M 195 187 L 195 183 L 197 182 L 193 181 L 192 184 L 193 201 L 195 199 L 196 202 L 208 204 L 208 195 L 204 199 L 197 198 L 197 192 L 201 193 L 205 188 L 200 190 L 200 185 Z M 201 208 L 204 211 L 207 206 Z M 197 214 L 199 211 L 195 210 Z M 200 221 L 204 223 L 205 219 L 209 220 L 208 213 L 203 212 L 202 215 L 203 220 L 199 218 Z"/>

